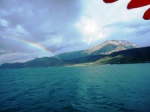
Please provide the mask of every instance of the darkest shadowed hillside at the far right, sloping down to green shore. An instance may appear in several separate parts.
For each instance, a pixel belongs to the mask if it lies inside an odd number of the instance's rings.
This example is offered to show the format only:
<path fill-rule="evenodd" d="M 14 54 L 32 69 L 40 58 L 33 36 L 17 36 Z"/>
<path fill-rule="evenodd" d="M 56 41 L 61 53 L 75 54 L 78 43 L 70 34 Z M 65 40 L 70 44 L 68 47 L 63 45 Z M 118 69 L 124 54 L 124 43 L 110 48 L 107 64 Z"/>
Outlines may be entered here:
<path fill-rule="evenodd" d="M 114 52 L 97 60 L 97 64 L 126 64 L 150 62 L 150 47 Z"/>

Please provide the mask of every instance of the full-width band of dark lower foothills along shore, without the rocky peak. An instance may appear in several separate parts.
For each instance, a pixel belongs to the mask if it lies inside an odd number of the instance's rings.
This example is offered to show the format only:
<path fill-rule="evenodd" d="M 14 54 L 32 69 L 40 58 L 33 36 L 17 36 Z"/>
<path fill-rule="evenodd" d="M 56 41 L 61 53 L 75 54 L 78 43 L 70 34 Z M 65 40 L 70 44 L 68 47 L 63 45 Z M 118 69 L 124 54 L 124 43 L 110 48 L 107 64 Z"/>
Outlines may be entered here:
<path fill-rule="evenodd" d="M 91 55 L 71 60 L 63 60 L 54 57 L 36 58 L 25 63 L 3 64 L 1 69 L 9 68 L 34 68 L 34 67 L 55 67 L 72 65 L 96 65 L 96 64 L 126 64 L 150 62 L 150 47 L 134 48 L 114 52 L 109 55 Z"/>

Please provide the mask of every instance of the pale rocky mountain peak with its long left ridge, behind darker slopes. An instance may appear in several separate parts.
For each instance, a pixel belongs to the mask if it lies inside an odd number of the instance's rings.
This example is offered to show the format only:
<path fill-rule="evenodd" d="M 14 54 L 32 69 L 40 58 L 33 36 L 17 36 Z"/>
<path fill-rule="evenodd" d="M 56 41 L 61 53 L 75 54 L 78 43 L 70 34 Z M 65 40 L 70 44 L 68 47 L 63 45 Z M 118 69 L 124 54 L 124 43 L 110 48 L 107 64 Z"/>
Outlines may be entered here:
<path fill-rule="evenodd" d="M 68 60 L 74 58 L 82 58 L 91 55 L 111 54 L 113 52 L 132 48 L 138 48 L 138 46 L 125 40 L 110 40 L 103 42 L 102 44 L 99 44 L 91 49 L 62 53 L 56 55 L 55 57 Z"/>

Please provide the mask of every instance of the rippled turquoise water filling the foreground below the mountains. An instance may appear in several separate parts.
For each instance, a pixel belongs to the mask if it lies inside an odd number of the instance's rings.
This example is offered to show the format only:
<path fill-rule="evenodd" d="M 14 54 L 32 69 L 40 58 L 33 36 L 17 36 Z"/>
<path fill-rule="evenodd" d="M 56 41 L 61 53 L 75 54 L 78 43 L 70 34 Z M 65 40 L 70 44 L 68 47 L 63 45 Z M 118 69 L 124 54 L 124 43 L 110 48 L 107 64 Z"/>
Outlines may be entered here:
<path fill-rule="evenodd" d="M 3 69 L 0 112 L 150 112 L 150 64 Z"/>

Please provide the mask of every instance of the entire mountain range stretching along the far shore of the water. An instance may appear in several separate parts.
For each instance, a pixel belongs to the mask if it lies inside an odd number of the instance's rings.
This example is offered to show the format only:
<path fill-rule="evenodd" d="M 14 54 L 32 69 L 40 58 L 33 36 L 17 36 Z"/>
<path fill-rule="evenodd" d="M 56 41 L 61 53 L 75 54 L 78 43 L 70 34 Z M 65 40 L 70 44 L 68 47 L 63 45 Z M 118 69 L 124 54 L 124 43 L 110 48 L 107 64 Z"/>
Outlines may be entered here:
<path fill-rule="evenodd" d="M 150 62 L 150 47 L 139 48 L 124 40 L 111 40 L 91 49 L 58 54 L 53 57 L 36 58 L 24 63 L 5 63 L 4 68 L 82 66 L 96 64 L 126 64 Z"/>

